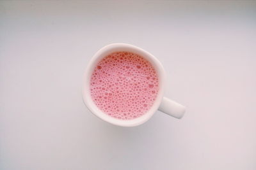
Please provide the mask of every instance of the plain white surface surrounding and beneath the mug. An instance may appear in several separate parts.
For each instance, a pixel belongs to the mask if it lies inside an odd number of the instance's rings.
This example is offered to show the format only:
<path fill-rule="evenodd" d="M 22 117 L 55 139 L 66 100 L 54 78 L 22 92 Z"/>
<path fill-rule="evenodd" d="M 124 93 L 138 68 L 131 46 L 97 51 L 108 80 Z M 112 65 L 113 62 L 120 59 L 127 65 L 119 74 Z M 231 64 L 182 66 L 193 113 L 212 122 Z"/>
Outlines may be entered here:
<path fill-rule="evenodd" d="M 155 55 L 184 104 L 125 128 L 84 106 L 109 43 Z M 0 169 L 256 169 L 256 1 L 0 1 Z"/>

